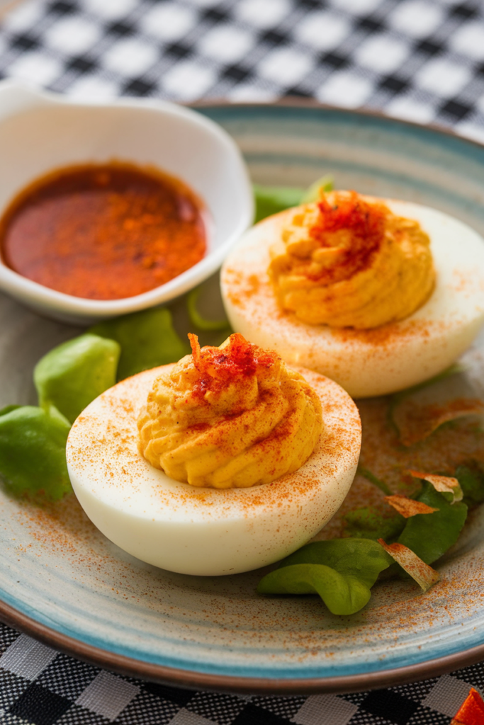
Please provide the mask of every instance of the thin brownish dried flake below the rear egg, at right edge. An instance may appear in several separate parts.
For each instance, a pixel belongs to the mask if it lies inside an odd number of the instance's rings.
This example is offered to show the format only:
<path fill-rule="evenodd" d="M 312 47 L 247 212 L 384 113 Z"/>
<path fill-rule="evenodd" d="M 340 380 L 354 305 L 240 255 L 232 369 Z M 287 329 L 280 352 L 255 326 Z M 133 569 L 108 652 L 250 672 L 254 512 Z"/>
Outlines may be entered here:
<path fill-rule="evenodd" d="M 390 418 L 404 446 L 419 443 L 437 428 L 467 415 L 483 415 L 484 401 L 462 368 L 449 368 L 439 376 L 393 396 Z"/>

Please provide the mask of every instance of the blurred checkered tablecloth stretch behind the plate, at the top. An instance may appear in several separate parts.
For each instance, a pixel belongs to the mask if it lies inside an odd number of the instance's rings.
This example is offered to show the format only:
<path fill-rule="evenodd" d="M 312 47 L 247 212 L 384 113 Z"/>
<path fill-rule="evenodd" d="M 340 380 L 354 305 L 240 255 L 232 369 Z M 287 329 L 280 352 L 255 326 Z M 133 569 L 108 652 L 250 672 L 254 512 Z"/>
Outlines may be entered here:
<path fill-rule="evenodd" d="M 25 0 L 0 75 L 73 96 L 307 96 L 484 138 L 481 0 Z"/>

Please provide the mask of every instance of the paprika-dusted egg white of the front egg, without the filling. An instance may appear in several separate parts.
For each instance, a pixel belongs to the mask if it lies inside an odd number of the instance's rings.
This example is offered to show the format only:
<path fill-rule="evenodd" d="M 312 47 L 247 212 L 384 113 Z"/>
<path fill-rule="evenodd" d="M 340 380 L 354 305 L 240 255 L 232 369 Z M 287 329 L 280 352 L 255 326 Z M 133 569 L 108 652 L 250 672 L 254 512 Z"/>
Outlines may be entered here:
<path fill-rule="evenodd" d="M 248 489 L 196 488 L 169 479 L 139 453 L 136 418 L 147 370 L 99 396 L 75 421 L 67 467 L 91 521 L 129 554 L 169 571 L 219 575 L 273 563 L 308 542 L 340 507 L 361 445 L 358 410 L 333 381 L 298 370 L 316 390 L 323 432 L 290 476 Z"/>

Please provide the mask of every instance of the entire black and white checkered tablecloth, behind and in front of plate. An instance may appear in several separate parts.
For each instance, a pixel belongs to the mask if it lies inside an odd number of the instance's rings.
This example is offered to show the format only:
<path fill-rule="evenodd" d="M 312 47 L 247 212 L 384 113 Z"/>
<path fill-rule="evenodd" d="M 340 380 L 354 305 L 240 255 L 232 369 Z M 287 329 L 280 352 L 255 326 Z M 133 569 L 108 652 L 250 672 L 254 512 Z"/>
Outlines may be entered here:
<path fill-rule="evenodd" d="M 0 6 L 1 7 L 1 6 Z M 26 0 L 0 22 L 0 76 L 83 98 L 364 105 L 484 141 L 483 0 Z M 484 665 L 358 695 L 163 687 L 0 625 L 12 725 L 448 725 Z"/>

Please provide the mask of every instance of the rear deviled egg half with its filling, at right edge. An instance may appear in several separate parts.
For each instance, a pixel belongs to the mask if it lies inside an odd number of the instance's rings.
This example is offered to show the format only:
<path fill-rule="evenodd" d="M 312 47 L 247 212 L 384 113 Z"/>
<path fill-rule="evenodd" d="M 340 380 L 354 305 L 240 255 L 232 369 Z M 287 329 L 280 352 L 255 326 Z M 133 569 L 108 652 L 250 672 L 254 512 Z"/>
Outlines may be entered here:
<path fill-rule="evenodd" d="M 223 265 L 234 330 L 353 397 L 448 368 L 484 322 L 484 240 L 449 215 L 354 191 L 281 212 Z"/>

